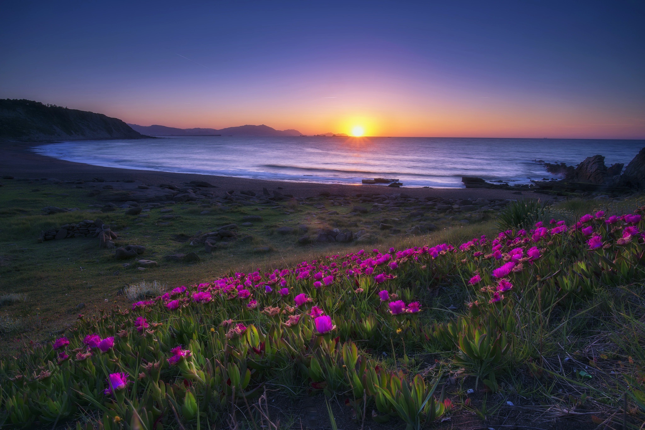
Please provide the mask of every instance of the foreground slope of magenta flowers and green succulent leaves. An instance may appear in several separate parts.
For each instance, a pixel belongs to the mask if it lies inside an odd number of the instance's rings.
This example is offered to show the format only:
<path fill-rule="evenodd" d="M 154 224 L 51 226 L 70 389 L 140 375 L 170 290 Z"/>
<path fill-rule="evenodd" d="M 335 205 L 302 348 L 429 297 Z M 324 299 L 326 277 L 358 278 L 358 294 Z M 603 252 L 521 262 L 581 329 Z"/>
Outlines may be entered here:
<path fill-rule="evenodd" d="M 542 419 L 639 428 L 644 211 L 144 285 L 132 306 L 79 315 L 64 336 L 1 360 L 0 416 L 277 429 L 275 389 L 340 398 L 359 425 L 419 429 L 522 404 Z"/>

